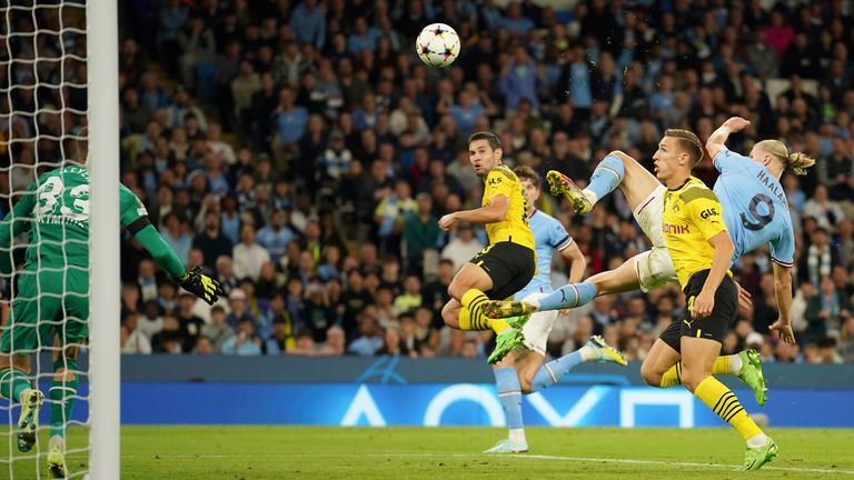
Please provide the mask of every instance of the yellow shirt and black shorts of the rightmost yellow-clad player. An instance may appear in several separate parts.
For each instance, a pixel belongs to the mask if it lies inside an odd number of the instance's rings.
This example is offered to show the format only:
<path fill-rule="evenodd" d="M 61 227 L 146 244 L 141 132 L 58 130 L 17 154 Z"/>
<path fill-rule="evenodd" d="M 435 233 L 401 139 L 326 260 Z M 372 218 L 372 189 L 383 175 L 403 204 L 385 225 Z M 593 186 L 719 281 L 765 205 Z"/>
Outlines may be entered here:
<path fill-rule="evenodd" d="M 708 239 L 726 232 L 722 213 L 715 193 L 694 177 L 664 194 L 664 241 L 687 302 L 683 318 L 672 323 L 661 337 L 676 351 L 679 351 L 681 338 L 686 336 L 723 342 L 726 329 L 735 321 L 738 290 L 729 274 L 715 291 L 712 313 L 704 319 L 692 318 L 694 299 L 703 290 L 715 256 Z"/>

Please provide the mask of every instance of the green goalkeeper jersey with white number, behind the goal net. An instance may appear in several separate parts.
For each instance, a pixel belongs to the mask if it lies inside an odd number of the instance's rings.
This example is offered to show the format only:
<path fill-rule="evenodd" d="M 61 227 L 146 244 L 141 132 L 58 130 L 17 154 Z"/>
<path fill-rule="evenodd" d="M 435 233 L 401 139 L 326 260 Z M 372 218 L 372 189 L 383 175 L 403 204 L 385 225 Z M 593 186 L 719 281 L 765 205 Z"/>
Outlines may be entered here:
<path fill-rule="evenodd" d="M 185 269 L 148 220 L 139 198 L 119 184 L 121 226 L 128 229 L 173 278 Z M 0 223 L 0 272 L 12 272 L 12 238 L 28 232 L 24 268 L 89 267 L 89 170 L 68 166 L 39 177 Z"/>

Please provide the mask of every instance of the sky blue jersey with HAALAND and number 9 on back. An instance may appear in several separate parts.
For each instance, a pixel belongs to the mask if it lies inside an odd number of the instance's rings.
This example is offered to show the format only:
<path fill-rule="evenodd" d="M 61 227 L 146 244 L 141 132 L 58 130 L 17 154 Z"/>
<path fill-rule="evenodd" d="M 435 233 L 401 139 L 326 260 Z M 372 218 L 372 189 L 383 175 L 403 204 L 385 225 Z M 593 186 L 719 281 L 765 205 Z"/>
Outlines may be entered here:
<path fill-rule="evenodd" d="M 771 243 L 771 259 L 792 267 L 795 234 L 783 186 L 765 166 L 729 150 L 721 150 L 714 162 L 721 172 L 714 192 L 735 244 L 733 262 L 745 252 Z"/>

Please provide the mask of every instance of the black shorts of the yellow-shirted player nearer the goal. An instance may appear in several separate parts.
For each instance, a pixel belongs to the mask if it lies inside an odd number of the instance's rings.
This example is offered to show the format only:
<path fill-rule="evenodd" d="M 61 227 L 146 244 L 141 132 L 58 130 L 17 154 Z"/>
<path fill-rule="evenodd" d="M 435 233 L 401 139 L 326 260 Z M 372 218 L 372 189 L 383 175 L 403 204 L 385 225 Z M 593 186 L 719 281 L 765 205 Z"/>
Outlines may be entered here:
<path fill-rule="evenodd" d="M 513 297 L 528 284 L 537 268 L 534 250 L 509 241 L 490 244 L 469 261 L 493 279 L 493 289 L 484 292 L 490 300 Z"/>

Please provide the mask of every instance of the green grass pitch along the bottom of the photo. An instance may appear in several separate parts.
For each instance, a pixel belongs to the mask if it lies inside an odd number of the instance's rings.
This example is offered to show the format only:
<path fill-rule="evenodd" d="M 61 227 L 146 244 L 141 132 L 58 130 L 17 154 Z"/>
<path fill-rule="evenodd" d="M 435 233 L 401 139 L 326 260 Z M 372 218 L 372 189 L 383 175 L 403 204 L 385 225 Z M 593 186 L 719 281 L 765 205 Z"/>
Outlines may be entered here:
<path fill-rule="evenodd" d="M 0 479 L 46 477 L 44 452 L 18 453 L 8 430 Z M 854 479 L 854 430 L 769 429 L 781 456 L 733 471 L 743 443 L 731 429 L 529 428 L 532 451 L 486 456 L 498 428 L 123 427 L 121 478 L 133 479 Z M 82 447 L 82 430 L 70 434 Z M 47 446 L 47 432 L 40 438 Z M 43 447 L 42 447 L 43 448 Z M 33 450 L 34 451 L 34 450 Z M 70 473 L 86 467 L 69 458 Z M 75 477 L 72 477 L 75 478 Z"/>

